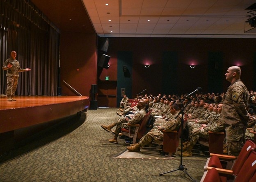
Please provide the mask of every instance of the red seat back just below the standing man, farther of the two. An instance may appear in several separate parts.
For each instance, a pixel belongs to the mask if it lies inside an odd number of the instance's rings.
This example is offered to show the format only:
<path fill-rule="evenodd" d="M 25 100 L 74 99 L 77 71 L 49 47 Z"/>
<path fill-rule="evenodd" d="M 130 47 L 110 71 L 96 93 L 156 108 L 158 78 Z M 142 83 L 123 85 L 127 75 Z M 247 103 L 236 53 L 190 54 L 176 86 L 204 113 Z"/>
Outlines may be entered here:
<path fill-rule="evenodd" d="M 245 145 L 242 147 L 240 154 L 238 155 L 237 159 L 235 160 L 235 164 L 232 167 L 232 171 L 234 175 L 237 175 L 242 168 L 245 160 L 248 158 L 250 153 L 256 149 L 256 144 L 251 140 L 247 140 Z"/>

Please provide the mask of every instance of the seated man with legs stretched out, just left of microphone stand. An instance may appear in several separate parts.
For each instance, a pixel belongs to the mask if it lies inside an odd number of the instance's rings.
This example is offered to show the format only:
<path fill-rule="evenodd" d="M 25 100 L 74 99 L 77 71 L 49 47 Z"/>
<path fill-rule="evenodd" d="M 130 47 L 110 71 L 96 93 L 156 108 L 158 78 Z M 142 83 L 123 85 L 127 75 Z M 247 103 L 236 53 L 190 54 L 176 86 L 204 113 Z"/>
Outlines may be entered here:
<path fill-rule="evenodd" d="M 171 105 L 171 114 L 177 116 L 180 111 L 180 108 L 178 104 L 174 103 Z M 128 151 L 132 152 L 139 152 L 141 146 L 146 146 L 148 144 L 151 144 L 154 140 L 163 140 L 163 133 L 162 130 L 172 131 L 172 130 L 178 130 L 181 126 L 181 115 L 177 117 L 177 119 L 174 117 L 173 119 L 170 119 L 167 123 L 161 125 L 161 126 L 155 126 L 153 129 L 151 129 L 144 137 L 142 137 L 139 140 L 139 143 L 132 144 L 131 146 L 128 146 Z"/>

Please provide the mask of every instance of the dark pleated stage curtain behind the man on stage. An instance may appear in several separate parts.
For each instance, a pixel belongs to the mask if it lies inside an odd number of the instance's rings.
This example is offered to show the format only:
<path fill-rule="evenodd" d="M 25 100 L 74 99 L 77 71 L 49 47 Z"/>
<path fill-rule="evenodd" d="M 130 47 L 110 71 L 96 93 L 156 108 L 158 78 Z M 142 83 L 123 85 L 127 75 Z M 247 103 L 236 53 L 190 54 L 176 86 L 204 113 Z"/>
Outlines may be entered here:
<path fill-rule="evenodd" d="M 57 95 L 59 29 L 30 0 L 0 0 L 1 67 L 11 51 L 21 68 L 17 95 Z M 0 70 L 0 94 L 6 94 L 6 71 Z"/>

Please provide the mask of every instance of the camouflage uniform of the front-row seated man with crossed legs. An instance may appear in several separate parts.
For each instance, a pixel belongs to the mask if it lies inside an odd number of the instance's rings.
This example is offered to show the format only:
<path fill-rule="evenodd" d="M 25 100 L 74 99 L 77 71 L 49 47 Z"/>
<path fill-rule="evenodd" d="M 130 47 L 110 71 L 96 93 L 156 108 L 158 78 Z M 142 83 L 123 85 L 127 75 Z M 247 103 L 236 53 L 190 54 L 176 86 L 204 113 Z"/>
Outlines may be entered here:
<path fill-rule="evenodd" d="M 129 121 L 126 121 L 126 117 L 120 117 L 119 119 L 117 119 L 116 121 L 114 121 L 114 124 L 117 125 L 117 128 L 115 130 L 115 135 L 118 135 L 121 132 L 122 128 L 126 128 L 129 129 L 128 123 L 129 124 L 140 124 L 142 122 L 143 117 L 146 115 L 146 111 L 145 109 L 141 109 L 138 112 L 135 112 L 133 115 L 133 118 L 130 119 Z M 131 128 L 131 130 L 133 132 L 135 132 L 135 128 Z"/>

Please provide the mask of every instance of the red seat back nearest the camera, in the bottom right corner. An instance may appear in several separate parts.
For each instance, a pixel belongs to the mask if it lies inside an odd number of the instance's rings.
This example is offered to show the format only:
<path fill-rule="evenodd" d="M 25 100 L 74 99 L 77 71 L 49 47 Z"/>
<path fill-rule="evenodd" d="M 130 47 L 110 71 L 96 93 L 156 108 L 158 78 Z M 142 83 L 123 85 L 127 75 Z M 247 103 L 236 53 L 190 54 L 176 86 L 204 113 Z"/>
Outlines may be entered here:
<path fill-rule="evenodd" d="M 256 152 L 251 152 L 239 171 L 235 182 L 249 182 L 256 172 Z"/>

